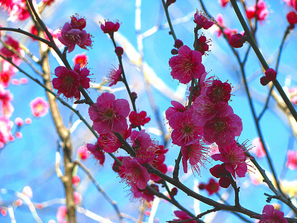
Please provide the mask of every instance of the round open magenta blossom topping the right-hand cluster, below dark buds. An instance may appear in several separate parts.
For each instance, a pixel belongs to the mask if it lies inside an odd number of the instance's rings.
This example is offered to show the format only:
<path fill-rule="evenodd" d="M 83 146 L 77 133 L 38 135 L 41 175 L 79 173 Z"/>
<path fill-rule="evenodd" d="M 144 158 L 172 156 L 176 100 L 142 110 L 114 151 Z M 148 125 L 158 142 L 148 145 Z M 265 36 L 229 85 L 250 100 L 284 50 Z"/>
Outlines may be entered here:
<path fill-rule="evenodd" d="M 178 79 L 183 84 L 188 84 L 193 78 L 200 78 L 205 72 L 205 67 L 201 63 L 202 55 L 200 52 L 192 51 L 184 45 L 179 49 L 178 56 L 169 59 L 171 76 Z"/>

